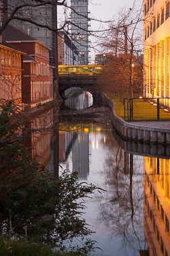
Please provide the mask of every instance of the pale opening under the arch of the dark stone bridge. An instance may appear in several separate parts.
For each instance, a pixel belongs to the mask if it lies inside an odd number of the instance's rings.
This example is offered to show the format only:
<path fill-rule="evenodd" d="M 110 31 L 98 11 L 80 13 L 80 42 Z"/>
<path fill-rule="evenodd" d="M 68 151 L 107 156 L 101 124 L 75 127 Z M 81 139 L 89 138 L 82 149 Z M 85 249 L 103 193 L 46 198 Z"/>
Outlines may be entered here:
<path fill-rule="evenodd" d="M 88 91 L 81 92 L 78 96 L 65 100 L 65 106 L 71 109 L 86 109 L 93 104 L 92 94 Z"/>

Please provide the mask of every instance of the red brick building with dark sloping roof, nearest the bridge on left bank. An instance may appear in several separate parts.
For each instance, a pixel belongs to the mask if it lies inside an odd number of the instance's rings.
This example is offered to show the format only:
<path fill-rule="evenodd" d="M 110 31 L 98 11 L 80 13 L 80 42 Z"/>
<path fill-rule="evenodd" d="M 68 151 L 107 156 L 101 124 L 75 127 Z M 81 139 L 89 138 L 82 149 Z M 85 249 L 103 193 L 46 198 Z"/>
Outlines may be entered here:
<path fill-rule="evenodd" d="M 2 36 L 3 40 L 27 53 L 23 58 L 22 102 L 33 107 L 53 100 L 54 67 L 49 65 L 50 48 L 11 25 Z"/>

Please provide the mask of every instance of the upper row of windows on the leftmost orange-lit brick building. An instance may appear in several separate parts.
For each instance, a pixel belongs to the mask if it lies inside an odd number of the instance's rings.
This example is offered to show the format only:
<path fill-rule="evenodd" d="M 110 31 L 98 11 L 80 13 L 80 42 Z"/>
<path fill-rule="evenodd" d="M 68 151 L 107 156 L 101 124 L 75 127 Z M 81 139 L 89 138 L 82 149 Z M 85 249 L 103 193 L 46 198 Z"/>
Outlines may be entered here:
<path fill-rule="evenodd" d="M 16 68 L 21 67 L 21 57 L 17 53 L 10 53 L 10 51 L 1 51 L 1 65 L 12 66 Z"/>

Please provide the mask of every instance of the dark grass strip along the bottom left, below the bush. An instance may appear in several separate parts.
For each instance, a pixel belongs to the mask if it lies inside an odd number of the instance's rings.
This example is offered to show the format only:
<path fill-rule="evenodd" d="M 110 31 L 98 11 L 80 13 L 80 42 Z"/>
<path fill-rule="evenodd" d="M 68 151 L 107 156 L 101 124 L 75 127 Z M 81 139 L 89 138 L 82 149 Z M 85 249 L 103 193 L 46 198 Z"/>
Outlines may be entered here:
<path fill-rule="evenodd" d="M 49 246 L 22 241 L 0 240 L 0 255 L 3 256 L 74 256 L 76 253 L 52 251 Z"/>

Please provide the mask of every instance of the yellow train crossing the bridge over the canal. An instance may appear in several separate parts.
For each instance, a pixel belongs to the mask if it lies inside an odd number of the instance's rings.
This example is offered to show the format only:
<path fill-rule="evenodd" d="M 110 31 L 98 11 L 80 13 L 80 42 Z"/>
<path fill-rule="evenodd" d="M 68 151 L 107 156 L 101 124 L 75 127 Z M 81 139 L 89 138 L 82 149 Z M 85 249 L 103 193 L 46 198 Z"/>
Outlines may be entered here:
<path fill-rule="evenodd" d="M 58 66 L 59 76 L 94 76 L 101 71 L 101 65 Z"/>

